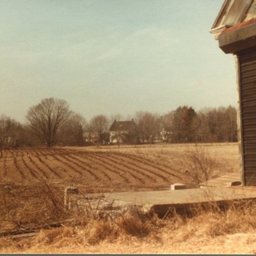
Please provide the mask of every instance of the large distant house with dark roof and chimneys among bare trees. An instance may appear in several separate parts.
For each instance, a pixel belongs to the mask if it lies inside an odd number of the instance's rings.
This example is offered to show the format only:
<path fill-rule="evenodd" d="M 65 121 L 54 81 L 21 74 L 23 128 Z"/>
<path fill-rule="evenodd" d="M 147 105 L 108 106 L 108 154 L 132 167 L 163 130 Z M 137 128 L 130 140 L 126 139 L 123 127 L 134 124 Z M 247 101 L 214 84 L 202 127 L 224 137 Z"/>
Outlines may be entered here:
<path fill-rule="evenodd" d="M 113 144 L 133 143 L 136 137 L 136 123 L 130 121 L 114 121 L 109 128 L 109 142 Z"/>

